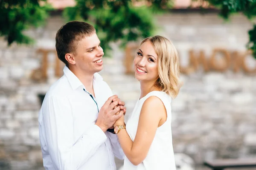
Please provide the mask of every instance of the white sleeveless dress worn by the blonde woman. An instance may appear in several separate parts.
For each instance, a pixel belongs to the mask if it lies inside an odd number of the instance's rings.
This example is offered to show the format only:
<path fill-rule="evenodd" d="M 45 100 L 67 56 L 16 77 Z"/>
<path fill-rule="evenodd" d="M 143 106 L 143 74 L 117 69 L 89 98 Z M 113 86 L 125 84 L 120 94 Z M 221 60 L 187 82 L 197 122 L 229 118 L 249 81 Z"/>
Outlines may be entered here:
<path fill-rule="evenodd" d="M 151 91 L 137 101 L 132 114 L 126 123 L 126 130 L 131 140 L 134 141 L 140 117 L 140 111 L 145 100 L 150 96 L 157 96 L 163 102 L 167 111 L 166 122 L 157 128 L 153 142 L 145 160 L 139 165 L 133 165 L 125 156 L 124 170 L 176 170 L 175 158 L 172 147 L 172 113 L 171 97 L 163 91 Z M 157 114 L 157 113 L 156 113 Z"/>

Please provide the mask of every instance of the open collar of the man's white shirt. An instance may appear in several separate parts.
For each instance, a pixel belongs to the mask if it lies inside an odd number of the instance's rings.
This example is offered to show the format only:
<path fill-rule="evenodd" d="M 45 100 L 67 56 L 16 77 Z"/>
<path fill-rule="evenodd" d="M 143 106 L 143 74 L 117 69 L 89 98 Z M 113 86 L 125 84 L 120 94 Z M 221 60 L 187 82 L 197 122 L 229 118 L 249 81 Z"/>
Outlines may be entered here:
<path fill-rule="evenodd" d="M 84 86 L 82 84 L 82 82 L 76 77 L 75 74 L 73 74 L 72 71 L 70 71 L 69 68 L 67 68 L 67 66 L 65 65 L 63 68 L 63 72 L 66 75 L 71 87 L 73 90 L 75 90 L 76 88 L 78 88 L 79 86 Z M 95 81 L 99 81 L 99 80 L 103 80 L 103 78 L 101 77 L 101 75 L 99 75 L 98 73 L 93 74 L 93 82 Z"/>

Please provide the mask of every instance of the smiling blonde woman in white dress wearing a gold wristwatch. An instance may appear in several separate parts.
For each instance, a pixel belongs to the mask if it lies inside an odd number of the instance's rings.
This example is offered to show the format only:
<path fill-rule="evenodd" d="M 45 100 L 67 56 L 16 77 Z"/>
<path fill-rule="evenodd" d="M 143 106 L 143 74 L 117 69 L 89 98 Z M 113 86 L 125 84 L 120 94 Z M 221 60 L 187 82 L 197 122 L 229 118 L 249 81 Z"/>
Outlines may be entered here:
<path fill-rule="evenodd" d="M 172 147 L 171 98 L 180 90 L 179 58 L 165 37 L 148 37 L 134 59 L 140 99 L 126 129 L 124 116 L 115 133 L 125 153 L 124 170 L 175 170 Z"/>

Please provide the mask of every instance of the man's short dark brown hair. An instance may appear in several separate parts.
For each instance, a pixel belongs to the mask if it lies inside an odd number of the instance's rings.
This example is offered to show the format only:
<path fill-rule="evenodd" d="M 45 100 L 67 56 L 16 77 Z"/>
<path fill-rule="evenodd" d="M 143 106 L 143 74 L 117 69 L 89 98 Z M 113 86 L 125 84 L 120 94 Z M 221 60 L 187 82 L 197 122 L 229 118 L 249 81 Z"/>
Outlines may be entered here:
<path fill-rule="evenodd" d="M 68 66 L 68 62 L 65 59 L 67 53 L 76 53 L 76 45 L 84 37 L 91 36 L 96 33 L 95 28 L 85 22 L 70 21 L 57 31 L 56 34 L 56 51 L 58 59 Z"/>

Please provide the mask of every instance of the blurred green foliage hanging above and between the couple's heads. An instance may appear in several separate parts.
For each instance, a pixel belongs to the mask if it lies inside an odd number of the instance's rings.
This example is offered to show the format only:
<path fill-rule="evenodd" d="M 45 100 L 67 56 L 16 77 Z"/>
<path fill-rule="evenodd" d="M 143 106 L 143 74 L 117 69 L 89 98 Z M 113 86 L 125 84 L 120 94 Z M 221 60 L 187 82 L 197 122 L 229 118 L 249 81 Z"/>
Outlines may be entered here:
<path fill-rule="evenodd" d="M 145 1 L 144 1 L 145 2 Z M 123 47 L 128 41 L 152 35 L 155 30 L 154 14 L 170 8 L 172 0 L 147 0 L 147 6 L 136 6 L 141 0 L 76 0 L 75 7 L 64 10 L 70 20 L 91 23 L 108 52 L 111 42 L 120 41 Z"/>

